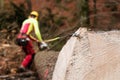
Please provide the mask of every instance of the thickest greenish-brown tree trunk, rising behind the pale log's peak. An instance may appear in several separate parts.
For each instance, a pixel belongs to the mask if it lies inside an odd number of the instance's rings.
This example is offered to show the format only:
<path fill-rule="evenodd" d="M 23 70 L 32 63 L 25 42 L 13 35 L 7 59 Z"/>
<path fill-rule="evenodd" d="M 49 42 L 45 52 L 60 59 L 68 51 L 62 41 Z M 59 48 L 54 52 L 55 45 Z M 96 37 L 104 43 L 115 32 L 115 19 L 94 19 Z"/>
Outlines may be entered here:
<path fill-rule="evenodd" d="M 78 16 L 82 27 L 89 25 L 89 6 L 88 0 L 77 0 Z"/>

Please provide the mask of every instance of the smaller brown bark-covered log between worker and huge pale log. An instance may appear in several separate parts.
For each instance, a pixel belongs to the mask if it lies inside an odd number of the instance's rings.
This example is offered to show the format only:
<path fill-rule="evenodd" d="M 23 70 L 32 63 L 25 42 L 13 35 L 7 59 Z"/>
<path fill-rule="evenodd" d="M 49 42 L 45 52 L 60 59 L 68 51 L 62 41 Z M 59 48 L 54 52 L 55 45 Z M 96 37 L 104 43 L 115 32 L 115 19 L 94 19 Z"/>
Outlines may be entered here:
<path fill-rule="evenodd" d="M 51 80 L 58 57 L 55 51 L 40 51 L 35 55 L 35 66 L 40 80 Z"/>

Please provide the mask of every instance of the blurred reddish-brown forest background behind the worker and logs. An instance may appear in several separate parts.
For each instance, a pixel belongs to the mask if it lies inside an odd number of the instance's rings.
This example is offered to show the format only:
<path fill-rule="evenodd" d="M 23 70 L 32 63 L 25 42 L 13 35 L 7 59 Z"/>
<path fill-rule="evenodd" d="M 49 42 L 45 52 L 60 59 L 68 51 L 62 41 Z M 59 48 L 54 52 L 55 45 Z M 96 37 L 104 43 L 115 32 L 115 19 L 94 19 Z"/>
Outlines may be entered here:
<path fill-rule="evenodd" d="M 71 34 L 79 27 L 120 29 L 119 3 L 119 0 L 0 0 L 0 30 L 11 33 L 6 34 L 8 39 L 13 38 L 31 10 L 40 14 L 44 39 Z"/>

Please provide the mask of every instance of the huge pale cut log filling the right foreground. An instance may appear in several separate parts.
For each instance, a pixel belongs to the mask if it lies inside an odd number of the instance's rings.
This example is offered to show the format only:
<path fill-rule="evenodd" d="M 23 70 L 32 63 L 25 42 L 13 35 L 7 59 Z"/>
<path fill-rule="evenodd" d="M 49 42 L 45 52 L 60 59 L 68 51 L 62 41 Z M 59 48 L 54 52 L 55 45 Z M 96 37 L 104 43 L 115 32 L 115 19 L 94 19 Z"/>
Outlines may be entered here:
<path fill-rule="evenodd" d="M 119 80 L 120 31 L 76 33 L 81 39 L 71 37 L 62 48 L 52 80 Z"/>

